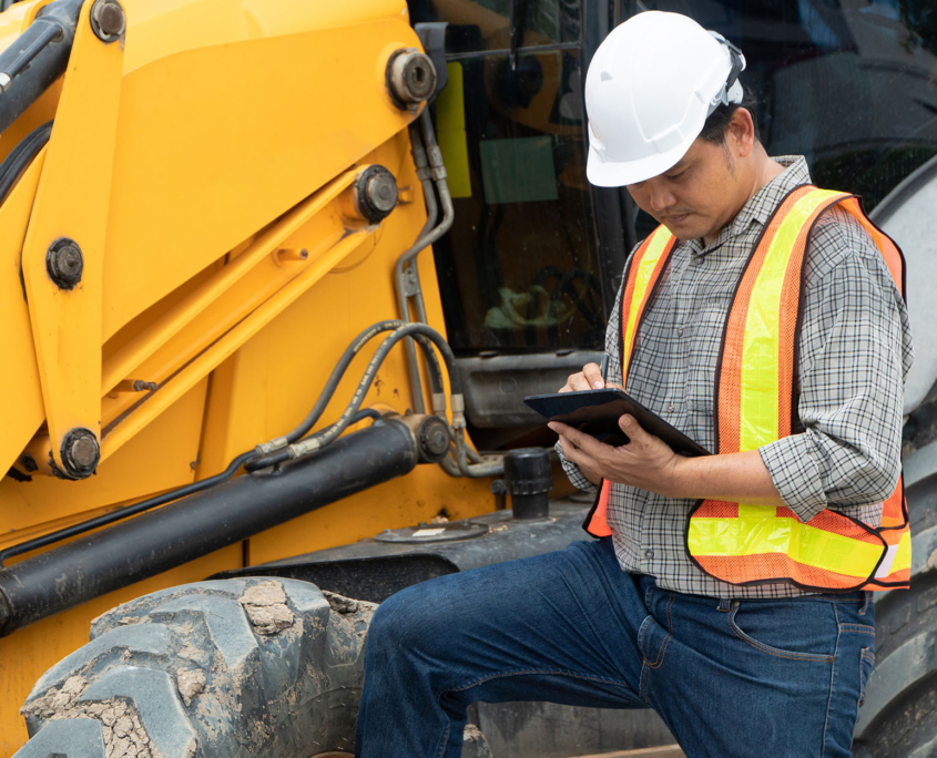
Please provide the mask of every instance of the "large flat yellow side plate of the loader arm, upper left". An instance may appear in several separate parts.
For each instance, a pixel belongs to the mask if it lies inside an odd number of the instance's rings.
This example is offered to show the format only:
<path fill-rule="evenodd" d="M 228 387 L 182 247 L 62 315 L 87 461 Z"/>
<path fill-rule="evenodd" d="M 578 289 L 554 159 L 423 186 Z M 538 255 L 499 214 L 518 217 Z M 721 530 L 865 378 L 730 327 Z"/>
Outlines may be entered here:
<path fill-rule="evenodd" d="M 401 17 L 190 50 L 131 71 L 104 338 L 404 129 L 413 115 L 390 102 L 384 65 L 417 44 Z"/>

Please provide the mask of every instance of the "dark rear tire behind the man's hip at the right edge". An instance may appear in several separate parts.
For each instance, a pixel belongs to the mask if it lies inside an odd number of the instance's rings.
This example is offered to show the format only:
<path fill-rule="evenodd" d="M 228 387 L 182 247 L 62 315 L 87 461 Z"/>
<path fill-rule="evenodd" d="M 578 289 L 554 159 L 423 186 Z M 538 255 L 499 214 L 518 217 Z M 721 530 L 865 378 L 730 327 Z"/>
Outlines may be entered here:
<path fill-rule="evenodd" d="M 907 491 L 911 586 L 876 593 L 875 669 L 859 709 L 858 758 L 937 756 L 937 477 Z"/>

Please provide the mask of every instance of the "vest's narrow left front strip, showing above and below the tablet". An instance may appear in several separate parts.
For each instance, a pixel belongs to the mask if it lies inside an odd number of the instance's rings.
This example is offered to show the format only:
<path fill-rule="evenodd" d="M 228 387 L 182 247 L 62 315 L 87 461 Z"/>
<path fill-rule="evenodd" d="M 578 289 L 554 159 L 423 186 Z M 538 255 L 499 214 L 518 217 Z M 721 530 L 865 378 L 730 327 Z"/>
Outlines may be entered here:
<path fill-rule="evenodd" d="M 625 272 L 624 291 L 621 294 L 621 349 L 619 356 L 621 358 L 622 387 L 628 387 L 628 369 L 641 319 L 653 295 L 654 287 L 661 279 L 661 272 L 664 270 L 670 260 L 670 254 L 675 243 L 676 238 L 666 227 L 659 226 L 631 256 L 631 264 Z M 583 527 L 592 536 L 603 537 L 610 536 L 612 533 L 605 518 L 609 511 L 610 490 L 609 482 L 603 481 L 599 490 L 599 498 L 592 506 L 592 511 L 585 518 Z"/>

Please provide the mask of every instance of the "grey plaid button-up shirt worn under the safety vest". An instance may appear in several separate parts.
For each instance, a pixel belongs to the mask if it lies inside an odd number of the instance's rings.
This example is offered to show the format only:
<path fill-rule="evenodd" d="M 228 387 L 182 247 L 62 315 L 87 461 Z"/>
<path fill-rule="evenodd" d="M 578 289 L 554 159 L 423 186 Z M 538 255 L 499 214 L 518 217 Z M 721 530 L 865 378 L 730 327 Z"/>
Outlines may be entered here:
<path fill-rule="evenodd" d="M 629 393 L 709 450 L 715 444 L 716 360 L 735 285 L 774 209 L 811 181 L 803 157 L 774 160 L 786 166 L 784 173 L 711 245 L 678 243 L 635 338 Z M 760 453 L 784 503 L 802 521 L 832 508 L 877 525 L 880 503 L 900 472 L 904 379 L 914 358 L 908 315 L 878 248 L 847 212 L 826 212 L 808 245 L 797 367 L 804 432 Z M 613 383 L 621 383 L 621 291 L 618 297 L 605 335 Z M 594 492 L 557 449 L 572 483 Z M 809 594 L 790 583 L 735 586 L 700 571 L 684 546 L 695 502 L 613 484 L 608 522 L 622 568 L 696 595 Z"/>

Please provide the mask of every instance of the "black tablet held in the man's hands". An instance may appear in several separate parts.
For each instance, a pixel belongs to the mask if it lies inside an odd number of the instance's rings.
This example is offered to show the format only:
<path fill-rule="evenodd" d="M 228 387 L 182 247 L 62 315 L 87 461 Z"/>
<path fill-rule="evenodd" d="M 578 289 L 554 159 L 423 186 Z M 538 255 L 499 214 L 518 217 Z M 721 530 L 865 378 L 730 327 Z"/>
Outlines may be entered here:
<path fill-rule="evenodd" d="M 559 421 L 584 431 L 607 444 L 628 443 L 628 437 L 621 431 L 618 420 L 631 413 L 642 429 L 660 437 L 674 452 L 683 455 L 710 454 L 709 450 L 620 389 L 529 395 L 523 401 L 549 421 Z"/>

